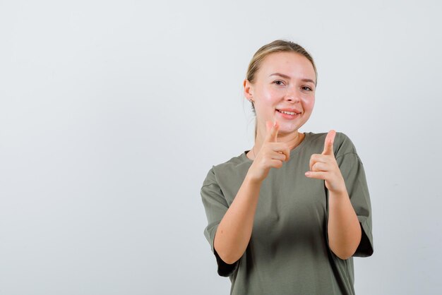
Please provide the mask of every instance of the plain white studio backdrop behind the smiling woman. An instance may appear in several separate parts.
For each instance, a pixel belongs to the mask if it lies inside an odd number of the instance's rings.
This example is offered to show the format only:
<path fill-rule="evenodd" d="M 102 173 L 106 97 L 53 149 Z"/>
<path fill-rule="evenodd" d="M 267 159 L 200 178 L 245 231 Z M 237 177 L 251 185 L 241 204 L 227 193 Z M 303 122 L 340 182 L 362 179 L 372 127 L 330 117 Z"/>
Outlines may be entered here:
<path fill-rule="evenodd" d="M 318 68 L 302 132 L 346 133 L 371 193 L 357 294 L 441 294 L 440 1 L 0 1 L 0 294 L 229 294 L 213 164 L 253 145 L 256 50 Z"/>

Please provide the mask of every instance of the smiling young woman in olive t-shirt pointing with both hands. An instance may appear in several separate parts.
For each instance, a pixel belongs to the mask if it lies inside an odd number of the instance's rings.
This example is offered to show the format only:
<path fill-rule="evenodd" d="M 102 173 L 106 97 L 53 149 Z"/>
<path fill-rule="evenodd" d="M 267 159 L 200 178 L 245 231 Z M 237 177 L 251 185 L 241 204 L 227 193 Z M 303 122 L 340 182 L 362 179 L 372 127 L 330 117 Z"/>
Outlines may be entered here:
<path fill-rule="evenodd" d="M 253 56 L 244 95 L 251 150 L 213 166 L 204 234 L 231 294 L 354 294 L 353 256 L 373 253 L 361 159 L 344 133 L 299 133 L 315 102 L 316 66 L 276 40 Z M 273 169 L 272 169 L 273 168 Z"/>

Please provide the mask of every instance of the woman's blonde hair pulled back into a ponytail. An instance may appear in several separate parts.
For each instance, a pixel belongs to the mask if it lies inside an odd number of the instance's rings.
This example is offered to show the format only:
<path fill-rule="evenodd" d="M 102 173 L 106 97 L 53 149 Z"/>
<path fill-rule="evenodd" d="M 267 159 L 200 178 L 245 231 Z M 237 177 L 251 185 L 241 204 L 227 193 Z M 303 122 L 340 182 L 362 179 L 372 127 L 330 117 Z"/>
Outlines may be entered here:
<path fill-rule="evenodd" d="M 255 54 L 253 54 L 253 57 L 249 64 L 249 68 L 247 68 L 247 73 L 246 73 L 246 79 L 249 80 L 250 83 L 254 83 L 256 72 L 258 72 L 259 66 L 261 66 L 261 63 L 263 62 L 265 57 L 275 52 L 294 52 L 305 56 L 307 59 L 309 59 L 311 65 L 313 66 L 313 69 L 315 70 L 315 76 L 316 76 L 315 86 L 318 84 L 318 72 L 316 71 L 315 63 L 309 52 L 307 52 L 306 49 L 304 49 L 304 47 L 301 47 L 301 45 L 285 40 L 275 40 L 273 42 L 270 42 L 269 44 L 265 44 L 263 47 L 258 49 L 258 51 Z M 251 107 L 253 114 L 255 114 L 256 116 L 255 106 L 253 105 L 253 102 L 251 104 Z M 255 122 L 255 139 L 257 132 L 258 132 L 258 123 Z"/>

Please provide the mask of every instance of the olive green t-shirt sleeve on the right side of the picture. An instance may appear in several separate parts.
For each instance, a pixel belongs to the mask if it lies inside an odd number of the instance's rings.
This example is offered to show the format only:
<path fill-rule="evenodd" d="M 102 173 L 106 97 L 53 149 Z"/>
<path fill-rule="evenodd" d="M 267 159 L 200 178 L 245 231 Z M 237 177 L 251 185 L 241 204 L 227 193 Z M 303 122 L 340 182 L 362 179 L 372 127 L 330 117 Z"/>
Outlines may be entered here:
<path fill-rule="evenodd" d="M 342 133 L 341 133 L 342 134 Z M 371 232 L 371 202 L 369 188 L 366 182 L 364 165 L 357 155 L 356 149 L 350 138 L 343 135 L 347 145 L 345 152 L 336 157 L 342 177 L 345 181 L 350 202 L 356 212 L 362 229 L 362 238 L 353 256 L 368 257 L 373 254 L 373 234 Z"/>

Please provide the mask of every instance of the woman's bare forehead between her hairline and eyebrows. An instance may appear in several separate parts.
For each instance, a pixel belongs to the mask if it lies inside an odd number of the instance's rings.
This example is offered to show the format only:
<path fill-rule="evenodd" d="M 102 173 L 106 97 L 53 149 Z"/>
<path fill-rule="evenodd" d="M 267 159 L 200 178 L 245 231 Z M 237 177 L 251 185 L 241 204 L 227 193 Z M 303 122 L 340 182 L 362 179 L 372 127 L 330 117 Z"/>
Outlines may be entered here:
<path fill-rule="evenodd" d="M 258 75 L 268 77 L 273 73 L 316 80 L 315 70 L 309 59 L 295 52 L 274 52 L 265 56 L 258 70 Z"/>

